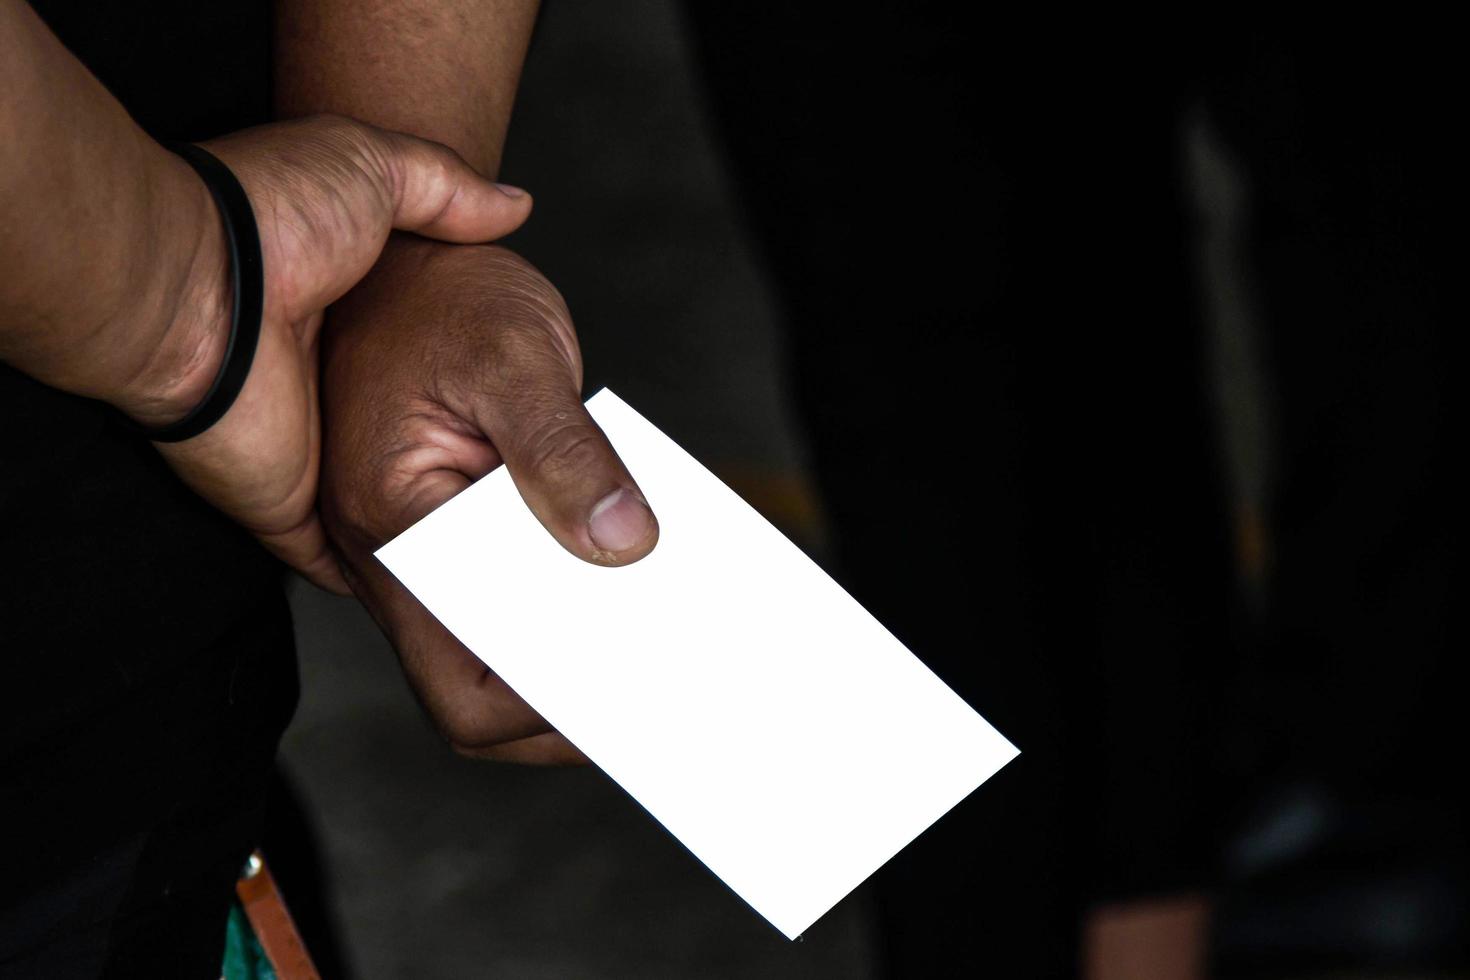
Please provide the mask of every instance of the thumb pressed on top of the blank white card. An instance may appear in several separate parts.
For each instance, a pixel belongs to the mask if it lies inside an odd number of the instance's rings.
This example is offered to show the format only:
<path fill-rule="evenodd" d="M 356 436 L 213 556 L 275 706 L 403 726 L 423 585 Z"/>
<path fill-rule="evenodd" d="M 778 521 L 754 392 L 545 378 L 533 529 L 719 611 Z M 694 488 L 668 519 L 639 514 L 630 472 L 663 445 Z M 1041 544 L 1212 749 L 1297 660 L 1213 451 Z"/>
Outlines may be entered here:
<path fill-rule="evenodd" d="M 526 505 L 563 548 L 594 564 L 638 561 L 659 542 L 659 522 L 582 406 L 564 363 L 562 372 L 563 383 L 490 392 L 475 406 L 476 422 Z"/>

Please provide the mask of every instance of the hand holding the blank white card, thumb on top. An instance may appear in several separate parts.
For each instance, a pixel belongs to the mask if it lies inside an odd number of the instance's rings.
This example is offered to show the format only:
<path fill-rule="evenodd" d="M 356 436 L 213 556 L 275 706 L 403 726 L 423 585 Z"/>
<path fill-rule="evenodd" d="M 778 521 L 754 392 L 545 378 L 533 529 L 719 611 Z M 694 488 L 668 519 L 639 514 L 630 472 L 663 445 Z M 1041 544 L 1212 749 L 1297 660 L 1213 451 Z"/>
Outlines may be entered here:
<path fill-rule="evenodd" d="M 582 407 L 562 297 L 504 248 L 401 237 L 332 307 L 325 350 L 322 516 L 420 702 L 462 754 L 584 761 L 373 558 L 503 461 L 572 554 L 616 566 L 653 550 L 659 525 Z"/>

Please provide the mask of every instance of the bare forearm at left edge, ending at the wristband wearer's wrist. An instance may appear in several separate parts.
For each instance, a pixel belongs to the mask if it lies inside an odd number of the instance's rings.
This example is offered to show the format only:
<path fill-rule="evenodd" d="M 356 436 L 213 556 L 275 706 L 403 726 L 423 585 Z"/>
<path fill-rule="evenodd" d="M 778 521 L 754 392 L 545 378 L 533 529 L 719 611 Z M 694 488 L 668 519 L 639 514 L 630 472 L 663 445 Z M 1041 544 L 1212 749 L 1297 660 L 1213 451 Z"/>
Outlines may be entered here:
<path fill-rule="evenodd" d="M 188 407 L 215 332 L 203 184 L 19 0 L 0 0 L 0 359 L 148 422 Z M 207 285 L 206 285 L 207 284 Z"/>

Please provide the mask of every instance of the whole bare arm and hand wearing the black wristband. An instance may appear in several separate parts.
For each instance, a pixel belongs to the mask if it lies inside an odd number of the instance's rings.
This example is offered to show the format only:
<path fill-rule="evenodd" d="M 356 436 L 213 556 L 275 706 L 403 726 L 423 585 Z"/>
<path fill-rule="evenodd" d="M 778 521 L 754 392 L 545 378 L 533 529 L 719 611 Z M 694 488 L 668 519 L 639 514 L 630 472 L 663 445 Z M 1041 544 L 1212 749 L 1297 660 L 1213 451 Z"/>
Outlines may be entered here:
<path fill-rule="evenodd" d="M 0 0 L 0 357 L 147 425 L 182 417 L 228 334 L 225 242 L 207 190 L 19 0 Z M 391 229 L 490 241 L 525 220 L 529 201 L 445 147 L 344 118 L 209 148 L 260 226 L 265 316 L 231 410 L 159 451 L 281 558 L 340 585 L 316 517 L 322 311 L 372 267 Z"/>

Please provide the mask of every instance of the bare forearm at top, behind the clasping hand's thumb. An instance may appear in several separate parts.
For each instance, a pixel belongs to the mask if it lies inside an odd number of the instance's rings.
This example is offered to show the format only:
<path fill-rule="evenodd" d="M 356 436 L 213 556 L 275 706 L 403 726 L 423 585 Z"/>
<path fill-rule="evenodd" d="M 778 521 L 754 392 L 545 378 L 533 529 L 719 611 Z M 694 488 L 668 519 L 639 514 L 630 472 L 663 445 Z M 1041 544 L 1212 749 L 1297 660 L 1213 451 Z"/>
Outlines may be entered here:
<path fill-rule="evenodd" d="M 278 10 L 284 118 L 354 116 L 497 173 L 535 0 L 301 0 Z"/>

